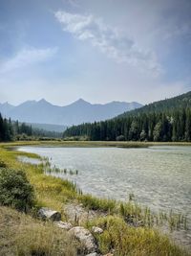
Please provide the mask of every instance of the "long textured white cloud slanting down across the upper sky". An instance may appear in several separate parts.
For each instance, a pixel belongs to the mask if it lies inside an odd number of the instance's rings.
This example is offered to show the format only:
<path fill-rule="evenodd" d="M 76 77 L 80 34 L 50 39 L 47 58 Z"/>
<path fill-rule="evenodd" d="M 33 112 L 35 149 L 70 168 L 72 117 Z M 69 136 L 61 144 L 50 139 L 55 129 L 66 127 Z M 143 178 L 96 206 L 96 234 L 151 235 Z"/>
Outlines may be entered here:
<path fill-rule="evenodd" d="M 152 51 L 141 49 L 132 38 L 122 35 L 117 28 L 106 26 L 100 18 L 61 11 L 55 12 L 54 15 L 62 24 L 63 31 L 71 33 L 79 40 L 88 40 L 118 63 L 126 62 L 155 76 L 161 72 Z"/>

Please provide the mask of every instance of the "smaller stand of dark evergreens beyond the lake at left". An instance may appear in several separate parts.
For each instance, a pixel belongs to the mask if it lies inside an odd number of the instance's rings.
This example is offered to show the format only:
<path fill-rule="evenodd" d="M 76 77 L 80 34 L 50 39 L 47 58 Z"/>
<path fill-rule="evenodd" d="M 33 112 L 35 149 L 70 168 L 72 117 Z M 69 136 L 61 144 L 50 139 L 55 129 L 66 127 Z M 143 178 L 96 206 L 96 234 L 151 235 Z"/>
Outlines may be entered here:
<path fill-rule="evenodd" d="M 32 128 L 25 123 L 3 118 L 0 113 L 0 142 L 13 140 L 46 139 L 61 137 L 61 133 Z"/>

